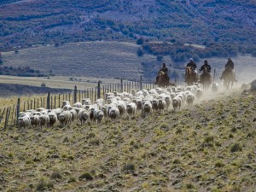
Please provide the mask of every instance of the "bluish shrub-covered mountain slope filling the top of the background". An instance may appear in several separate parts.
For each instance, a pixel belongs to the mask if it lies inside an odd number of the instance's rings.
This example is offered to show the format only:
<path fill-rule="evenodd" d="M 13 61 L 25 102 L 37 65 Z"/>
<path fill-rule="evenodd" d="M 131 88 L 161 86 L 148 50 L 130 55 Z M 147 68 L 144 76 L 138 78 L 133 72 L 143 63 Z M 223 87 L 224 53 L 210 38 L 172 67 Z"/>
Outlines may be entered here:
<path fill-rule="evenodd" d="M 255 51 L 253 0 L 4 0 L 0 18 L 0 50 L 142 36 Z"/>

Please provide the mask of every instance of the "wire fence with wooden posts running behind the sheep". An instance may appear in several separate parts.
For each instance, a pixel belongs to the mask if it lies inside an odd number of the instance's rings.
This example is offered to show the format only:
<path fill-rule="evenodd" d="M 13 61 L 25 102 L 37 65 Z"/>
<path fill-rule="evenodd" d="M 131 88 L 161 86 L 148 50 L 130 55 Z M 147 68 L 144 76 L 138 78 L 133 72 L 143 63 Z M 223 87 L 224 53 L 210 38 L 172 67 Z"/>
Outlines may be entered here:
<path fill-rule="evenodd" d="M 175 79 L 176 85 L 185 85 L 184 79 Z M 91 102 L 96 102 L 98 98 L 104 98 L 108 92 L 131 92 L 131 90 L 154 89 L 157 85 L 154 83 L 143 82 L 142 76 L 139 81 L 123 81 L 117 84 L 102 84 L 101 81 L 93 88 L 79 90 L 77 86 L 67 93 L 51 95 L 49 92 L 47 96 L 35 96 L 27 99 L 26 97 L 19 97 L 17 102 L 8 108 L 0 108 L 0 127 L 3 129 L 11 128 L 17 125 L 20 112 L 37 108 L 61 108 L 63 101 L 68 101 L 71 104 L 81 102 L 84 98 L 90 98 Z"/>

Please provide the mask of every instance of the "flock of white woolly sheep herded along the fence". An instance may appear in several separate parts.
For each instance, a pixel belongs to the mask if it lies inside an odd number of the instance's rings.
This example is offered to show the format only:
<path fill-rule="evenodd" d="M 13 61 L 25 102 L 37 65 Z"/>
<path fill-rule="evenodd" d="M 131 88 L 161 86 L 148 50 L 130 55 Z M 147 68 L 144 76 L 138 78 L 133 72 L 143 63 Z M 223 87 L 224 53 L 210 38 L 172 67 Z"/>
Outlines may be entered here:
<path fill-rule="evenodd" d="M 212 84 L 212 91 L 218 91 L 218 84 Z M 20 129 L 37 126 L 71 125 L 79 121 L 80 125 L 87 122 L 100 124 L 102 119 L 115 122 L 119 118 L 131 119 L 138 113 L 143 117 L 150 113 L 160 112 L 173 108 L 177 111 L 182 106 L 191 107 L 195 99 L 200 100 L 204 91 L 200 84 L 178 86 L 172 88 L 155 88 L 146 90 L 131 90 L 128 92 L 110 92 L 104 99 L 97 99 L 92 103 L 90 98 L 73 105 L 63 101 L 61 108 L 37 108 L 20 112 L 18 124 Z"/>

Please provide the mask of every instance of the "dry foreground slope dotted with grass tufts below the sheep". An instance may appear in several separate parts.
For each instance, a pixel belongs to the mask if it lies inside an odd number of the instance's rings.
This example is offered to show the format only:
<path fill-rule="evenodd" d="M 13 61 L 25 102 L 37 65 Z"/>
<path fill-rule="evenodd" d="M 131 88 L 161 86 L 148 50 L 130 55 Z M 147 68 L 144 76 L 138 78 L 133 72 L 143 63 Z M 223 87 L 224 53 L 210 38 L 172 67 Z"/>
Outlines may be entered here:
<path fill-rule="evenodd" d="M 253 191 L 256 92 L 116 124 L 0 134 L 0 190 Z"/>

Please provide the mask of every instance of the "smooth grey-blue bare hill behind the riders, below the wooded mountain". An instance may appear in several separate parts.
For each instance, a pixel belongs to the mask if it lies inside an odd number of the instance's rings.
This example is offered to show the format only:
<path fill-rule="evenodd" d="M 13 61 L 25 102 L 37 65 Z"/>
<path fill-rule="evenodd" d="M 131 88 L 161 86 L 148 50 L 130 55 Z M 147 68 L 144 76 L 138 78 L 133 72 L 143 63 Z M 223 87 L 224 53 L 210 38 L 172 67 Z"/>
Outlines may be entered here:
<path fill-rule="evenodd" d="M 79 42 L 62 44 L 59 47 L 38 46 L 20 49 L 18 53 L 15 51 L 3 52 L 3 67 L 31 67 L 45 75 L 55 74 L 67 77 L 66 80 L 71 77 L 138 80 L 140 75 L 143 75 L 144 80 L 153 82 L 162 62 L 166 62 L 172 80 L 183 78 L 184 66 L 189 60 L 175 62 L 169 55 L 163 55 L 161 61 L 157 60 L 156 55 L 137 56 L 139 47 L 140 45 L 136 43 L 116 41 Z M 212 69 L 216 69 L 218 80 L 218 75 L 224 70 L 227 58 L 212 57 L 207 60 Z M 240 83 L 255 78 L 255 58 L 251 55 L 237 55 L 232 57 L 232 60 L 235 62 Z M 198 67 L 203 64 L 203 61 L 202 59 L 196 61 Z M 49 83 L 51 79 L 55 79 L 55 77 L 50 77 Z M 40 81 L 42 80 L 40 79 Z M 105 81 L 103 79 L 103 82 Z M 65 84 L 62 84 L 62 88 L 63 85 Z"/>

